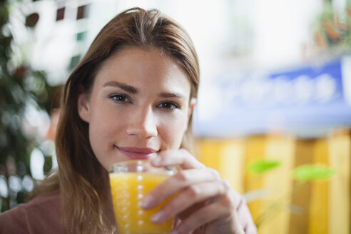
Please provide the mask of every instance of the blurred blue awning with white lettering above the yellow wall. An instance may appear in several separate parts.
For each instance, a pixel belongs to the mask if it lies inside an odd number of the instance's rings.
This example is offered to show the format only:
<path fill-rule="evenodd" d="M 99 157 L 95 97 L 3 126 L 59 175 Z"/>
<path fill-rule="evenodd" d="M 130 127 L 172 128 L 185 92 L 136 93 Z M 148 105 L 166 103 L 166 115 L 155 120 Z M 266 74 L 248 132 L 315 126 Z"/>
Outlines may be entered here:
<path fill-rule="evenodd" d="M 220 93 L 220 108 L 210 118 L 200 112 L 195 133 L 238 136 L 284 131 L 318 136 L 330 128 L 351 126 L 351 101 L 347 100 L 351 87 L 346 87 L 351 85 L 351 72 L 345 72 L 346 64 L 351 68 L 351 63 L 336 59 L 324 66 L 264 76 L 219 78 L 214 87 Z"/>

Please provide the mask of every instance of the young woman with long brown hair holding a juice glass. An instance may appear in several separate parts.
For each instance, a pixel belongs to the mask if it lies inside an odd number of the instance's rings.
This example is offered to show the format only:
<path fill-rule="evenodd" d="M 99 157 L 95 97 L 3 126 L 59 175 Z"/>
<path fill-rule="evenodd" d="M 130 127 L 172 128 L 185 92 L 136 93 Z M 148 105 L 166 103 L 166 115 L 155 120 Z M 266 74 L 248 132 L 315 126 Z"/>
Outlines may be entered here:
<path fill-rule="evenodd" d="M 112 19 L 63 90 L 56 136 L 59 167 L 34 198 L 0 215 L 1 233 L 118 233 L 108 169 L 148 158 L 181 170 L 146 195 L 153 216 L 176 217 L 173 233 L 256 233 L 243 198 L 192 155 L 198 57 L 185 30 L 159 11 Z"/>

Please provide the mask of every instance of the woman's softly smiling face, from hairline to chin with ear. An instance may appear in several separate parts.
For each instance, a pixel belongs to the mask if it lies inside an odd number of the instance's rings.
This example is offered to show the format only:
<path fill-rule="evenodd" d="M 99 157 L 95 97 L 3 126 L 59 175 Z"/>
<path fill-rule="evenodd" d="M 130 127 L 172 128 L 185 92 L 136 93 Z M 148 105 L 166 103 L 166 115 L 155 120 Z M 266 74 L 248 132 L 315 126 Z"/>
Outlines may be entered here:
<path fill-rule="evenodd" d="M 195 105 L 188 76 L 158 49 L 128 47 L 107 59 L 78 98 L 93 152 L 112 163 L 178 149 Z"/>

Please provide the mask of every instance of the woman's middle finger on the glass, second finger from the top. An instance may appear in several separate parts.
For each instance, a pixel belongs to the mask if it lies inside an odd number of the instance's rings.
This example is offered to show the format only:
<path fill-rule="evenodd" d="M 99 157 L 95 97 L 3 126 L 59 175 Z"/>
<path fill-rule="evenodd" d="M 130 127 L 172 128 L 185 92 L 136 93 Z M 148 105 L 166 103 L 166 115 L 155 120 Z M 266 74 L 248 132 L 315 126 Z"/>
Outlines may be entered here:
<path fill-rule="evenodd" d="M 163 200 L 171 195 L 187 188 L 190 185 L 220 180 L 217 171 L 212 168 L 189 169 L 179 171 L 177 174 L 168 178 L 165 182 L 151 190 L 143 199 L 141 206 L 144 209 L 151 209 L 161 204 Z"/>

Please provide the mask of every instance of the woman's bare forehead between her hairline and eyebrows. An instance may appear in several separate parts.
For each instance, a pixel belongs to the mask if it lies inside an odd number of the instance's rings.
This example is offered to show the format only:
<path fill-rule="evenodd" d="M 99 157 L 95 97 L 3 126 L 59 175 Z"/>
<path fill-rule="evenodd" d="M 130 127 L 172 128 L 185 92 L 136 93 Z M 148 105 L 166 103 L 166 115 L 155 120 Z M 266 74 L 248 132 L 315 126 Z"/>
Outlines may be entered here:
<path fill-rule="evenodd" d="M 117 81 L 140 88 L 147 83 L 163 89 L 190 90 L 188 74 L 183 68 L 161 50 L 154 48 L 129 47 L 118 51 L 101 66 L 96 78 L 99 86 Z"/>

